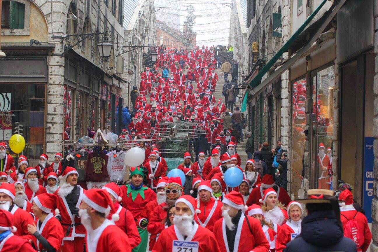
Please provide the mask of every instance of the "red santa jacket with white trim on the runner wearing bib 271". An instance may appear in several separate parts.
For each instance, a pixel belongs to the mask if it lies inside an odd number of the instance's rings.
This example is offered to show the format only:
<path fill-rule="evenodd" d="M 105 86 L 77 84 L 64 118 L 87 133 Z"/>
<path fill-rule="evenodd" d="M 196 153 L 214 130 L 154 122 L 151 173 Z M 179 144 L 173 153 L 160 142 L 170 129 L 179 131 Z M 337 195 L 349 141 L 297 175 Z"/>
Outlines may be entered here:
<path fill-rule="evenodd" d="M 220 251 L 214 234 L 210 230 L 194 223 L 192 235 L 186 237 L 186 239 L 184 239 L 175 225 L 164 229 L 160 233 L 152 252 L 176 251 L 173 250 L 174 241 L 198 242 L 198 252 Z"/>

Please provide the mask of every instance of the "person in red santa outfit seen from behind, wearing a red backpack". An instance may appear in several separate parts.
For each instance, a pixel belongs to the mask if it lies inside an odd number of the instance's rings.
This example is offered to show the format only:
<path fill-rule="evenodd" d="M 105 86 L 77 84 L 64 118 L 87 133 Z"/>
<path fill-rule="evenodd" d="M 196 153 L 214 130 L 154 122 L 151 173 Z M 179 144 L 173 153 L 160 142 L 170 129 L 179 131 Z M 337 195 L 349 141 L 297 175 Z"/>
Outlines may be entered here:
<path fill-rule="evenodd" d="M 366 216 L 353 207 L 353 194 L 350 190 L 347 189 L 342 191 L 339 194 L 339 201 L 342 201 L 340 207 L 340 219 L 344 230 L 344 236 L 345 233 L 352 232 L 351 230 L 347 230 L 348 221 L 355 220 L 357 224 L 357 233 L 360 234 L 356 235 L 357 239 L 354 240 L 356 243 L 356 249 L 358 252 L 365 252 L 370 245 L 370 241 L 372 241 L 372 233 L 367 224 Z M 353 230 L 353 232 L 356 232 L 356 230 Z M 363 239 L 361 239 L 361 236 Z"/>

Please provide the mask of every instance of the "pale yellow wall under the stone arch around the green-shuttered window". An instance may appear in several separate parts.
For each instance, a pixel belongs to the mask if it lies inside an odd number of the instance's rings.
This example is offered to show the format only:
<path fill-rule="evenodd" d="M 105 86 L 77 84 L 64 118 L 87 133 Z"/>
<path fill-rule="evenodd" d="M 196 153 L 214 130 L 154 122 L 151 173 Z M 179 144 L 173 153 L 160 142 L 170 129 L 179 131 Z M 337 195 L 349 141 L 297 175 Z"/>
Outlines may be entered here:
<path fill-rule="evenodd" d="M 29 43 L 31 39 L 48 42 L 48 28 L 42 12 L 33 3 L 30 4 L 30 35 L 2 36 L 2 43 Z"/>

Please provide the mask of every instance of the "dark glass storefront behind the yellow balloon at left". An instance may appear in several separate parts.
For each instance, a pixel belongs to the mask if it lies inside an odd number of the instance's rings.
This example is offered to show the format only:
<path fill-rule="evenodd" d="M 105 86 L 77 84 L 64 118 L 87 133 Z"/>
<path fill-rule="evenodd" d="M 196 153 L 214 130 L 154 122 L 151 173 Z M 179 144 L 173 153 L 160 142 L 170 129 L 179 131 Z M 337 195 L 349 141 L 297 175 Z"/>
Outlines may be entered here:
<path fill-rule="evenodd" d="M 12 135 L 20 134 L 26 141 L 22 154 L 39 159 L 44 153 L 46 85 L 2 83 L 1 87 L 0 141 L 9 144 Z"/>

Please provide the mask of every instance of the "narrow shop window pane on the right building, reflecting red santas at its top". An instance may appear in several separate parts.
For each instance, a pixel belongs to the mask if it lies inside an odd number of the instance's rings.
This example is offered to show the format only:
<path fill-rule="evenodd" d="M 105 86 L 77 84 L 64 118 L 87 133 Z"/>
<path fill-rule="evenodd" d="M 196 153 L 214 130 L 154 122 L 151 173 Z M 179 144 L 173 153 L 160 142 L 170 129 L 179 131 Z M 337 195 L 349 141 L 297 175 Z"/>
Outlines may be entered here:
<path fill-rule="evenodd" d="M 306 79 L 301 79 L 292 84 L 293 97 L 291 106 L 291 192 L 292 198 L 303 196 L 302 171 L 304 170 L 303 159 L 305 152 L 305 138 L 303 131 L 306 127 L 305 99 Z"/>

